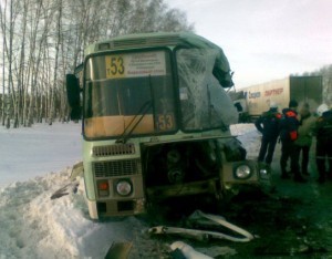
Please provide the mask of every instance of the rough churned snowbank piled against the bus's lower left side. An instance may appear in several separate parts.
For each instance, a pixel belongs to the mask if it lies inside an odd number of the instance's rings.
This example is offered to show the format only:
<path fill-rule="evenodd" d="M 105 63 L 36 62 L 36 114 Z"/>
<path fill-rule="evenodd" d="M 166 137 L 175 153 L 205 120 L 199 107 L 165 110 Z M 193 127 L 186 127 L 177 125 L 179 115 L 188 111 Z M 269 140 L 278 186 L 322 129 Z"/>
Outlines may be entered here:
<path fill-rule="evenodd" d="M 74 184 L 69 195 L 50 198 L 66 184 L 69 169 L 0 191 L 0 258 L 103 258 L 113 241 L 133 240 L 135 218 L 90 220 Z"/>

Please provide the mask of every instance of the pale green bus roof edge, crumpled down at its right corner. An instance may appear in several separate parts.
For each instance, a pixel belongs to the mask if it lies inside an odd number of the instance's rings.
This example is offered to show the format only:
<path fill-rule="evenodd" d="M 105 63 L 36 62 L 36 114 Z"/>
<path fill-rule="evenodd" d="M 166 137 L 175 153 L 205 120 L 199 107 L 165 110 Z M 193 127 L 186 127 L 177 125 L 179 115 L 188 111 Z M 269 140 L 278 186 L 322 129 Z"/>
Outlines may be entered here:
<path fill-rule="evenodd" d="M 222 49 L 207 39 L 191 32 L 153 32 L 120 35 L 89 45 L 85 49 L 85 55 L 105 50 L 125 50 L 162 45 L 217 50 L 218 55 L 215 60 L 212 73 L 224 87 L 230 87 L 234 85 L 230 66 Z"/>

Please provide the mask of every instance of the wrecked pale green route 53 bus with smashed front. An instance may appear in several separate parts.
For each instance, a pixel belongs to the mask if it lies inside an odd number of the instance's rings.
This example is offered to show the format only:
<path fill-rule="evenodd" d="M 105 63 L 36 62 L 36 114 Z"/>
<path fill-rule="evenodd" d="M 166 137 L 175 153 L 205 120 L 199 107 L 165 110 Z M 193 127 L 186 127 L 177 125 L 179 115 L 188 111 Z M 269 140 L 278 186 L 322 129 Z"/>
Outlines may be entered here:
<path fill-rule="evenodd" d="M 91 218 L 180 196 L 222 198 L 269 177 L 230 134 L 231 71 L 216 44 L 189 32 L 131 34 L 84 55 L 66 87 L 71 117 L 83 122 Z"/>

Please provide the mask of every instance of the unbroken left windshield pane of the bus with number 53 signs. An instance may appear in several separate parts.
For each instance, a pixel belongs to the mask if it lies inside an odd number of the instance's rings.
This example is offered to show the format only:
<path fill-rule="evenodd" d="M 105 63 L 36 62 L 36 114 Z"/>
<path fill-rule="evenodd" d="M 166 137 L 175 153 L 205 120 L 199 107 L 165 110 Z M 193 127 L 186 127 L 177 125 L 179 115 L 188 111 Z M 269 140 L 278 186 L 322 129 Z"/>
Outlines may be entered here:
<path fill-rule="evenodd" d="M 146 104 L 149 105 L 146 105 Z M 84 135 L 87 138 L 176 130 L 167 50 L 90 56 L 85 62 Z"/>

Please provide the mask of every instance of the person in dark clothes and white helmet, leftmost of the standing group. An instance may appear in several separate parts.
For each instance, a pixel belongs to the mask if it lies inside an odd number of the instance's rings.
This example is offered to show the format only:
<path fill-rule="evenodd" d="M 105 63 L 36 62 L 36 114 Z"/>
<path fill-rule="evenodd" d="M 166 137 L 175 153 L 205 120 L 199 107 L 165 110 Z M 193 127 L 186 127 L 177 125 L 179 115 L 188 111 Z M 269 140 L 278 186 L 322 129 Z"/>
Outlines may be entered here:
<path fill-rule="evenodd" d="M 279 121 L 281 114 L 278 112 L 278 105 L 270 103 L 270 110 L 264 112 L 256 122 L 255 126 L 262 134 L 261 145 L 258 155 L 258 162 L 271 165 L 273 153 L 279 136 Z"/>

